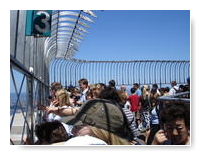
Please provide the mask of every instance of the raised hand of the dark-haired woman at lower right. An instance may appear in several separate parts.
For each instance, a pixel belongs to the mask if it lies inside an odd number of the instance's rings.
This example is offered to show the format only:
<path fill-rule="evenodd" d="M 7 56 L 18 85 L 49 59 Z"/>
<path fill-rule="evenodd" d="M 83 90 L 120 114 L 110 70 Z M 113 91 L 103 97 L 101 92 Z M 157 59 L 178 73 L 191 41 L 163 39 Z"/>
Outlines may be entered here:
<path fill-rule="evenodd" d="M 151 145 L 161 145 L 167 140 L 167 137 L 165 135 L 164 130 L 159 130 L 153 139 L 153 142 Z"/>

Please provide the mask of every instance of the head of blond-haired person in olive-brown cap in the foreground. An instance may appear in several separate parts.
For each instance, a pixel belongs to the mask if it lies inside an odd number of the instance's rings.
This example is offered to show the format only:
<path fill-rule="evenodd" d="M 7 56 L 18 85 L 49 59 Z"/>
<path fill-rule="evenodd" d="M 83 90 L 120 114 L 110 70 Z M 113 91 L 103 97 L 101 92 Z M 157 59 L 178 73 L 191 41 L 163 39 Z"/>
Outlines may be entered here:
<path fill-rule="evenodd" d="M 108 145 L 130 145 L 131 133 L 125 115 L 109 100 L 89 100 L 81 106 L 74 117 L 63 122 L 74 125 L 72 133 L 75 135 L 93 136 Z"/>

